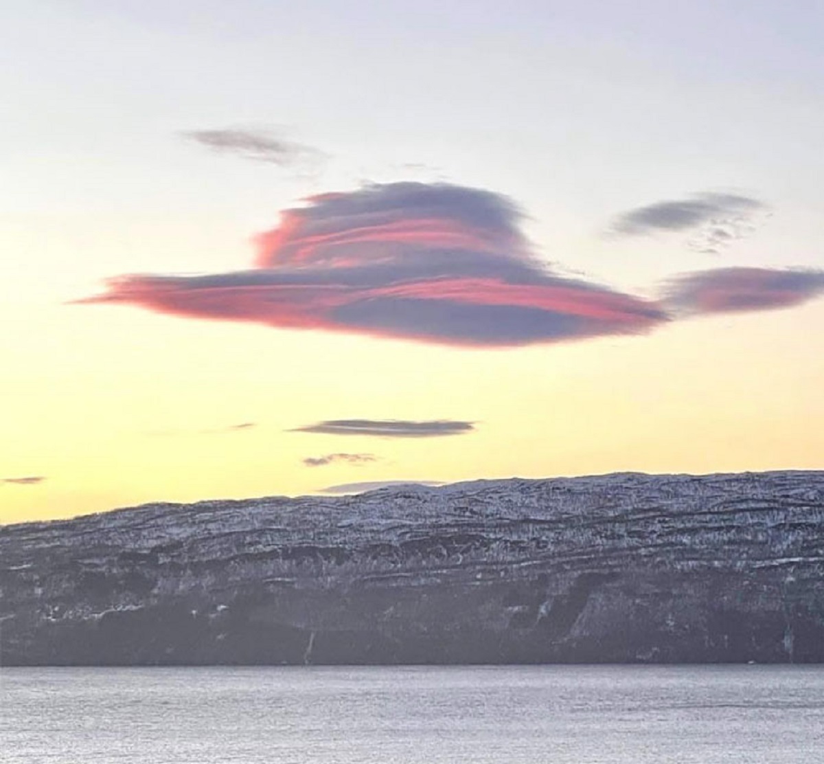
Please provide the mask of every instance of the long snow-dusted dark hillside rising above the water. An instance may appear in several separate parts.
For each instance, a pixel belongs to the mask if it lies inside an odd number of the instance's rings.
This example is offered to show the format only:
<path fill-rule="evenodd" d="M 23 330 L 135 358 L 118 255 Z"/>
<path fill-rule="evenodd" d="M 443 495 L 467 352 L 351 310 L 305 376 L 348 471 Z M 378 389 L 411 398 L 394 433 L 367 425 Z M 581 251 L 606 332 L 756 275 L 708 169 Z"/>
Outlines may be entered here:
<path fill-rule="evenodd" d="M 405 486 L 0 528 L 0 663 L 824 661 L 824 472 Z"/>

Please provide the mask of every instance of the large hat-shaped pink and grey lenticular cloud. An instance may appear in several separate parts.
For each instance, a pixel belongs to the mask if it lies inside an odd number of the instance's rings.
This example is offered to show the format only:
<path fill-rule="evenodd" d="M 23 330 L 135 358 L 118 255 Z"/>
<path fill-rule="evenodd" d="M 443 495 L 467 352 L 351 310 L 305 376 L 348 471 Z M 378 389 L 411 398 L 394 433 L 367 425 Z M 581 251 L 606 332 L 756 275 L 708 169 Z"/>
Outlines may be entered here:
<path fill-rule="evenodd" d="M 667 321 L 657 302 L 550 271 L 502 195 L 403 182 L 307 201 L 256 238 L 248 270 L 124 275 L 81 302 L 476 347 L 635 334 Z"/>

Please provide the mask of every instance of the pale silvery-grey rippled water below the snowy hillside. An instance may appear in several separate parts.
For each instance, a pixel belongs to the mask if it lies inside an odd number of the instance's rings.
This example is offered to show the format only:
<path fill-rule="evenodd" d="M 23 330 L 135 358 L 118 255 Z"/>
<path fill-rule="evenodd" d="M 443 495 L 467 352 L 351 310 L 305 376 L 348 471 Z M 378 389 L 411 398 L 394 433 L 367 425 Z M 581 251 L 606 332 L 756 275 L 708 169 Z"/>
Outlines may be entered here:
<path fill-rule="evenodd" d="M 4 764 L 824 762 L 824 667 L 2 668 Z"/>

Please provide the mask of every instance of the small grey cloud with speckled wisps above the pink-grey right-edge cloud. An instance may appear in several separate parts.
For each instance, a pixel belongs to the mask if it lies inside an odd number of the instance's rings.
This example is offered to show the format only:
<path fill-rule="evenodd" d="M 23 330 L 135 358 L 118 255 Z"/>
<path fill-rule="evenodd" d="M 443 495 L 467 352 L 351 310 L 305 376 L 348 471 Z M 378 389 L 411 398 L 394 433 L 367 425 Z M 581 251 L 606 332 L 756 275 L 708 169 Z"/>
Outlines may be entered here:
<path fill-rule="evenodd" d="M 686 199 L 665 199 L 621 213 L 611 233 L 648 236 L 659 232 L 685 232 L 694 251 L 718 255 L 733 241 L 756 230 L 756 214 L 769 207 L 760 199 L 737 194 L 704 192 Z"/>

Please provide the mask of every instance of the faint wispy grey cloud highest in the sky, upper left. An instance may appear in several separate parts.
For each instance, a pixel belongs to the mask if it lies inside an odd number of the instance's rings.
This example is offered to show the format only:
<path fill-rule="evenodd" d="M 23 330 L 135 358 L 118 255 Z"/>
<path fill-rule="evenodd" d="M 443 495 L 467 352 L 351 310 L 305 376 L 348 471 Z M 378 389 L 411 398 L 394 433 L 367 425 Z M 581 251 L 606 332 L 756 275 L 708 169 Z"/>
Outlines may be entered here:
<path fill-rule="evenodd" d="M 283 138 L 275 129 L 227 128 L 188 130 L 182 136 L 213 151 L 234 154 L 255 162 L 269 162 L 290 167 L 302 162 L 316 162 L 321 152 L 302 143 Z"/>

